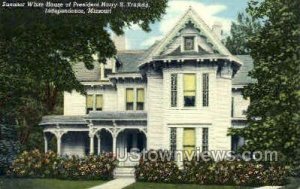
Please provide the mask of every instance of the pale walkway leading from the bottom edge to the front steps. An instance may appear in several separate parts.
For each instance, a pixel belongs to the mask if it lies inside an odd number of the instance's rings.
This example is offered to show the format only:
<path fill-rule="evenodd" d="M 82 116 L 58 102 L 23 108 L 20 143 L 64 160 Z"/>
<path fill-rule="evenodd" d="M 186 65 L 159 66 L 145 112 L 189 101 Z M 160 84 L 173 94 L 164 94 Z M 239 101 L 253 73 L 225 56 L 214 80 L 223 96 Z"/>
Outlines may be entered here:
<path fill-rule="evenodd" d="M 134 178 L 117 178 L 99 186 L 94 186 L 89 189 L 122 189 L 130 184 L 135 183 Z"/>

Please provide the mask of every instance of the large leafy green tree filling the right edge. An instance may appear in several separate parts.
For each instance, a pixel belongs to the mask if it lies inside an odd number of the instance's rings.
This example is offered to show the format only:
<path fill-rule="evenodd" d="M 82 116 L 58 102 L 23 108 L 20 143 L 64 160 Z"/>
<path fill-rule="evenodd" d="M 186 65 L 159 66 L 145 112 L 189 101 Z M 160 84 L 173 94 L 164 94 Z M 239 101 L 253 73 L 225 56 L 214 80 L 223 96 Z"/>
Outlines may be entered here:
<path fill-rule="evenodd" d="M 249 126 L 233 129 L 244 137 L 245 150 L 272 150 L 288 162 L 300 144 L 300 1 L 252 0 L 248 12 L 262 28 L 249 40 L 257 80 L 244 88 L 250 97 Z M 298 157 L 299 159 L 299 157 Z"/>

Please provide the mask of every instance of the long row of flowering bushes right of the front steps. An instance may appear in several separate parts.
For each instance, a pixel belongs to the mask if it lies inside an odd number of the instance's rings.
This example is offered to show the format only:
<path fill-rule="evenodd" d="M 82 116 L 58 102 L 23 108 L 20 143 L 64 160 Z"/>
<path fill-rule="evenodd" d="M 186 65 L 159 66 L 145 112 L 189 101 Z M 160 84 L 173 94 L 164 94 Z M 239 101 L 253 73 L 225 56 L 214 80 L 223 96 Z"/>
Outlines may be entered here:
<path fill-rule="evenodd" d="M 147 155 L 145 157 L 148 157 Z M 288 171 L 279 163 L 255 161 L 185 161 L 179 169 L 173 161 L 141 158 L 135 176 L 142 182 L 218 184 L 238 186 L 283 185 Z"/>

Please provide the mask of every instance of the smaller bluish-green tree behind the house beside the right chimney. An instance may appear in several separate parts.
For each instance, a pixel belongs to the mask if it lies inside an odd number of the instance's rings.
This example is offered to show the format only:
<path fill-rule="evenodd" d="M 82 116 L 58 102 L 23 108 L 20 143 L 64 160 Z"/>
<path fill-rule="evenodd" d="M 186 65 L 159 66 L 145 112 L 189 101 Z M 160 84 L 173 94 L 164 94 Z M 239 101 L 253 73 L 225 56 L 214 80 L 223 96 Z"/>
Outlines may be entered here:
<path fill-rule="evenodd" d="M 261 28 L 259 21 L 254 21 L 246 13 L 238 13 L 237 21 L 232 22 L 230 36 L 225 39 L 225 45 L 232 54 L 249 54 L 249 38 Z"/>

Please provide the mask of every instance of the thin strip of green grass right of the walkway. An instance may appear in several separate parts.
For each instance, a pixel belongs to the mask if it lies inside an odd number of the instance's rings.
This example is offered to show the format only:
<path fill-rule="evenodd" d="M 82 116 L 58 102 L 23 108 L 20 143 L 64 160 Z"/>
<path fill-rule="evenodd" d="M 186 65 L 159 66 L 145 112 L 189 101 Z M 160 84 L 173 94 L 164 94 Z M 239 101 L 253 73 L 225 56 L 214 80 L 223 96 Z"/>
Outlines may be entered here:
<path fill-rule="evenodd" d="M 250 187 L 137 182 L 126 187 L 125 189 L 250 189 Z"/>

